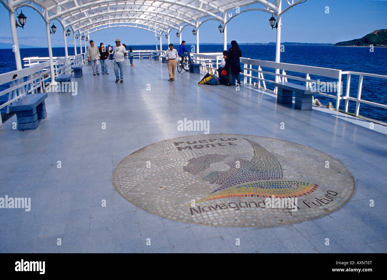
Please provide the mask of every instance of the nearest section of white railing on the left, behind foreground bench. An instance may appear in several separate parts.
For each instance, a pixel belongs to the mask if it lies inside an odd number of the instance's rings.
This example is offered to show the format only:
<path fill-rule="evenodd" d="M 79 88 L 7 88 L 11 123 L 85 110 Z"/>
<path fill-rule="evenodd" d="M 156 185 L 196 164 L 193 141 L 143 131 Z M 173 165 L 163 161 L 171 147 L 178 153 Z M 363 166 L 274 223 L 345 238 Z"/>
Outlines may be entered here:
<path fill-rule="evenodd" d="M 0 105 L 0 109 L 16 102 L 28 93 L 45 92 L 45 81 L 51 79 L 50 62 L 38 63 L 35 66 L 3 73 L 0 75 L 0 86 L 6 85 L 9 87 L 0 92 L 0 97 L 8 94 L 8 101 Z M 0 124 L 2 120 L 0 118 Z"/>

